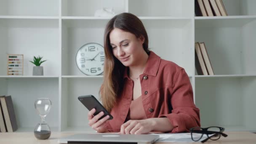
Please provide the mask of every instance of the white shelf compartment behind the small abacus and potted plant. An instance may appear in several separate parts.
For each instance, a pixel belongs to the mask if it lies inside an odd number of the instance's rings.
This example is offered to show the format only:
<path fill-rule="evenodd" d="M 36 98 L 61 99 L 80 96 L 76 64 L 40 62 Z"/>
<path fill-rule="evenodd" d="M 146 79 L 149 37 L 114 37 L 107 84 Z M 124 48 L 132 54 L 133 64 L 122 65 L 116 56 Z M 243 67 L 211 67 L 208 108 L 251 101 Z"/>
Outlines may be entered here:
<path fill-rule="evenodd" d="M 58 19 L 0 19 L 0 37 L 0 75 L 7 75 L 7 54 L 24 54 L 24 76 L 32 75 L 29 61 L 38 55 L 47 60 L 45 76 L 60 74 Z"/>

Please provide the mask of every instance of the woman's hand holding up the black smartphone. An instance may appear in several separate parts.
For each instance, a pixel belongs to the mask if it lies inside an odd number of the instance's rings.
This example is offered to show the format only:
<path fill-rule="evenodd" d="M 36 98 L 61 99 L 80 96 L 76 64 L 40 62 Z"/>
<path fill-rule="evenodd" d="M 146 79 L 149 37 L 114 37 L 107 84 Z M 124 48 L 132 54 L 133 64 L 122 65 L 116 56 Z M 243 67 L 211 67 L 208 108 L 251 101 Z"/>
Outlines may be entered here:
<path fill-rule="evenodd" d="M 99 120 L 99 118 L 104 115 L 104 112 L 100 112 L 98 115 L 93 116 L 95 112 L 96 109 L 91 109 L 91 111 L 88 112 L 89 125 L 98 133 L 108 132 L 107 128 L 105 128 L 105 123 L 109 119 L 109 115 Z"/>

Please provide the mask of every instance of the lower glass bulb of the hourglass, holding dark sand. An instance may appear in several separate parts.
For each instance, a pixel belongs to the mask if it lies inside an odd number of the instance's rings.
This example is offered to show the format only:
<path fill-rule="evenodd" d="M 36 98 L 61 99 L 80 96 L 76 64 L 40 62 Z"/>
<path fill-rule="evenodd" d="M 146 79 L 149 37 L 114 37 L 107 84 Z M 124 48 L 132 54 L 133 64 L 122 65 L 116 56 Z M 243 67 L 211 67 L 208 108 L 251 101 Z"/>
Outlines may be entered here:
<path fill-rule="evenodd" d="M 46 123 L 38 123 L 34 135 L 37 139 L 48 139 L 51 136 L 50 127 Z"/>

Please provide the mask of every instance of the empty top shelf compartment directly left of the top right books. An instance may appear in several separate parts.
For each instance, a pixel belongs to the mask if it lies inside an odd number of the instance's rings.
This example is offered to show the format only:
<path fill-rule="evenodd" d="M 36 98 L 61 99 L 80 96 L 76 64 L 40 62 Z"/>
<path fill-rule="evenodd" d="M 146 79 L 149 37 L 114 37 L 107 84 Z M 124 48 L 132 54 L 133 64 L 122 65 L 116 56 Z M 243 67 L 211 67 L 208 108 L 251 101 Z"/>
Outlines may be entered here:
<path fill-rule="evenodd" d="M 136 16 L 193 16 L 191 0 L 129 0 L 128 3 L 128 11 Z"/>

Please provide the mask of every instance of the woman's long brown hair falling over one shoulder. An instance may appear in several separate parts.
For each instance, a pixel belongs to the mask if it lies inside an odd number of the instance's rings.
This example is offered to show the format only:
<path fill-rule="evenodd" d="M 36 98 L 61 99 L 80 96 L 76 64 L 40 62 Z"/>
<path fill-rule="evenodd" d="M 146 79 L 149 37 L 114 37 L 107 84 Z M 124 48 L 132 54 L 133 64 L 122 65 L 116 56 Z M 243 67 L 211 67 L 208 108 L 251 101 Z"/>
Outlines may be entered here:
<path fill-rule="evenodd" d="M 144 37 L 143 48 L 149 54 L 147 32 L 137 16 L 131 13 L 120 13 L 110 19 L 104 32 L 104 80 L 99 91 L 102 104 L 109 112 L 123 89 L 125 70 L 125 66 L 114 56 L 110 45 L 109 34 L 114 28 L 130 32 L 138 38 Z"/>

